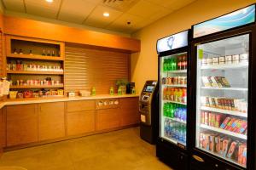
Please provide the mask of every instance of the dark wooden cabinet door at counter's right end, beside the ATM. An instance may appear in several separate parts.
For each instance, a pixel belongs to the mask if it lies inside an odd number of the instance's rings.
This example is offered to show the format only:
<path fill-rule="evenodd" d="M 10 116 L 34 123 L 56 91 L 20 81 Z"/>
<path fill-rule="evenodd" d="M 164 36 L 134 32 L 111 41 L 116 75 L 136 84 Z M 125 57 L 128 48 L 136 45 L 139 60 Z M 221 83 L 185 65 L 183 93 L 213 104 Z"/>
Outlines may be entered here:
<path fill-rule="evenodd" d="M 140 122 L 138 102 L 137 97 L 120 99 L 121 126 L 138 124 Z"/>

